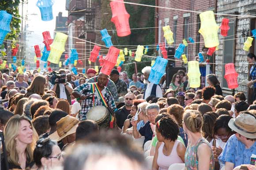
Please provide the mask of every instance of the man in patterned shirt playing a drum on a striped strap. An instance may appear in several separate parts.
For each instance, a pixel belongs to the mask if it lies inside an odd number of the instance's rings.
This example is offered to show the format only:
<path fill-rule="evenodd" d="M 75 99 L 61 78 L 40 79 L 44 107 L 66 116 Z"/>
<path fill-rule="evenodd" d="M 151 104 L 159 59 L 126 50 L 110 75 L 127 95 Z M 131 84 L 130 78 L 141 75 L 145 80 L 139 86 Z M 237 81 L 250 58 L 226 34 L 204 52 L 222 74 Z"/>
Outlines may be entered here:
<path fill-rule="evenodd" d="M 114 98 L 105 87 L 109 76 L 102 72 L 98 75 L 97 83 L 84 83 L 76 87 L 73 91 L 75 98 L 80 98 L 82 101 L 81 110 L 79 112 L 80 121 L 87 119 L 87 112 L 94 106 L 103 105 L 104 99 L 106 104 L 113 110 L 116 109 Z"/>

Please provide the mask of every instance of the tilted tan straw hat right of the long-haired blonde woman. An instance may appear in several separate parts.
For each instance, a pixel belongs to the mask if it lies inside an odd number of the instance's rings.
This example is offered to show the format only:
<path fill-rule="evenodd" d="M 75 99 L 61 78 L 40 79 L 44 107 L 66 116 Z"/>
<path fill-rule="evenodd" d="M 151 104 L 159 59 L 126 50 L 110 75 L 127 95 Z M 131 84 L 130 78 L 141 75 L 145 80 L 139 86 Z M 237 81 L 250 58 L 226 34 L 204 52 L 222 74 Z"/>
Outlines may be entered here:
<path fill-rule="evenodd" d="M 70 134 L 74 134 L 79 120 L 72 116 L 65 116 L 61 118 L 57 123 L 57 130 L 49 135 L 49 138 L 54 141 L 60 141 L 64 137 Z"/>

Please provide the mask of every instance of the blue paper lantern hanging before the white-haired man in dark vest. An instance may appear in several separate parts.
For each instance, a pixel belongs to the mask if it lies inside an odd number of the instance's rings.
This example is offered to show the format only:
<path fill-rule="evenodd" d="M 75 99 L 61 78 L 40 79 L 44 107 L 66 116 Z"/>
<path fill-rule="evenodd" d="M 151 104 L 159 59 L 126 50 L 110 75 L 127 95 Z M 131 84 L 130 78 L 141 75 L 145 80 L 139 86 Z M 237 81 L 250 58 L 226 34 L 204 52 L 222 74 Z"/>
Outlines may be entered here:
<path fill-rule="evenodd" d="M 154 62 L 154 65 L 151 68 L 148 81 L 154 84 L 159 84 L 159 81 L 161 80 L 162 76 L 166 73 L 167 63 L 168 60 L 158 56 Z"/>

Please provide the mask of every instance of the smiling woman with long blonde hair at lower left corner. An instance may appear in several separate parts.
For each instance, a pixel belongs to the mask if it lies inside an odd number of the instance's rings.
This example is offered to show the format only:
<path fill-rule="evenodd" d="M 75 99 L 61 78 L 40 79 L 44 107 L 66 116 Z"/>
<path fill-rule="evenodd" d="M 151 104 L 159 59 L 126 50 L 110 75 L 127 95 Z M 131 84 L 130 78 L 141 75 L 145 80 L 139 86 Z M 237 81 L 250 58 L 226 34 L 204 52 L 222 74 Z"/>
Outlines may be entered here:
<path fill-rule="evenodd" d="M 9 119 L 4 128 L 5 145 L 9 169 L 26 169 L 33 166 L 33 151 L 38 134 L 30 119 L 15 115 Z M 1 160 L 1 168 L 5 168 L 5 160 Z"/>

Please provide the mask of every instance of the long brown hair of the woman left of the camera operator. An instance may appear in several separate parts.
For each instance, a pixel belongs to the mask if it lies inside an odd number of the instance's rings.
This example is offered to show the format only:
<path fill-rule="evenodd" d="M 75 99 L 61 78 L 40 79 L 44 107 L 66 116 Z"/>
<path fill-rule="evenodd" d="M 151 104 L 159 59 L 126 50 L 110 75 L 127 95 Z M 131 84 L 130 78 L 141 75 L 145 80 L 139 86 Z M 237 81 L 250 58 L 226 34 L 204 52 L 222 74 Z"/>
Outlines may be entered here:
<path fill-rule="evenodd" d="M 40 96 L 43 96 L 45 94 L 45 84 L 46 80 L 44 76 L 36 76 L 27 88 L 25 97 L 28 98 L 31 94 L 39 94 Z"/>

